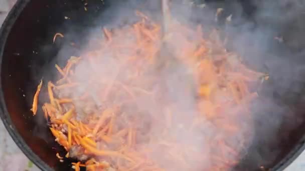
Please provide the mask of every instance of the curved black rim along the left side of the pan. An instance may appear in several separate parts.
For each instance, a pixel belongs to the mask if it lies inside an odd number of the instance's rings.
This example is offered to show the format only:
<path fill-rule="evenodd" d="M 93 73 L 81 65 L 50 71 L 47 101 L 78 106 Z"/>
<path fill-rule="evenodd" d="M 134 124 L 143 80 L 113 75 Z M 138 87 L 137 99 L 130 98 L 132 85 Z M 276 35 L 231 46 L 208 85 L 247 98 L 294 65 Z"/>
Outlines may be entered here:
<path fill-rule="evenodd" d="M 0 72 L 2 68 L 2 59 L 3 59 L 3 52 L 5 48 L 5 44 L 7 41 L 7 37 L 10 34 L 10 31 L 15 23 L 16 19 L 19 17 L 21 11 L 24 7 L 30 2 L 30 0 L 17 0 L 15 5 L 13 6 L 12 10 L 9 12 L 8 16 L 6 17 L 5 21 L 2 24 L 0 29 Z M 40 159 L 27 145 L 27 143 L 23 140 L 21 135 L 16 131 L 15 125 L 12 123 L 10 114 L 8 112 L 3 88 L 2 88 L 2 80 L 0 79 L 0 117 L 12 136 L 15 143 L 18 147 L 25 153 L 25 155 L 33 161 L 40 169 L 42 170 L 53 170 L 48 164 L 46 164 L 42 159 Z"/>

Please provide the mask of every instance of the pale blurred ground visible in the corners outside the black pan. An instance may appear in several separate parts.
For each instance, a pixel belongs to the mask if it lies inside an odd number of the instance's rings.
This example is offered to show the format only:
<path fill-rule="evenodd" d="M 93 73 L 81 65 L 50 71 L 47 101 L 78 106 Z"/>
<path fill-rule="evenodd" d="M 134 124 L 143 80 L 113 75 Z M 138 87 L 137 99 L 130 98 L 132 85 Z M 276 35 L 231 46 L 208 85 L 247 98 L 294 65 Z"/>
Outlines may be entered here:
<path fill-rule="evenodd" d="M 13 6 L 16 0 L 0 0 L 0 25 L 5 19 L 7 12 Z M 38 171 L 29 159 L 17 147 L 2 121 L 0 121 L 0 171 Z M 303 171 L 305 170 L 305 152 L 288 166 L 285 171 Z"/>

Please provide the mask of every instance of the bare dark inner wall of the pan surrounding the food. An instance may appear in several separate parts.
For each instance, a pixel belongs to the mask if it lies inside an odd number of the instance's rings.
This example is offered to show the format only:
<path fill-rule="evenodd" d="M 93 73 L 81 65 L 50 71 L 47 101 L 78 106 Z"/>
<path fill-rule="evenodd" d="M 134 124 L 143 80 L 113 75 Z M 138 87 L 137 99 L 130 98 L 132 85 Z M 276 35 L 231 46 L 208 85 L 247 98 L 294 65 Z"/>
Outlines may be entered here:
<path fill-rule="evenodd" d="M 234 0 L 207 1 L 211 1 L 208 3 L 211 3 L 214 8 L 228 6 L 225 13 L 236 12 L 232 11 L 235 6 Z M 215 1 L 217 3 L 214 3 Z M 245 158 L 235 169 L 258 170 L 260 165 L 264 165 L 272 170 L 282 170 L 300 154 L 304 149 L 305 142 L 303 137 L 305 115 L 303 113 L 304 107 L 302 107 L 305 98 L 303 98 L 303 93 L 300 94 L 302 90 L 298 89 L 295 93 L 294 91 L 297 88 L 292 87 L 292 85 L 291 88 L 290 85 L 282 86 L 286 81 L 291 81 L 291 84 L 299 85 L 300 87 L 305 85 L 303 80 L 299 80 L 301 76 L 297 78 L 293 76 L 303 73 L 295 70 L 295 68 L 305 65 L 305 62 L 300 57 L 302 56 L 302 44 L 305 44 L 303 43 L 305 41 L 301 39 L 301 36 L 298 38 L 288 31 L 293 28 L 295 32 L 300 33 L 302 32 L 302 26 L 293 24 L 299 23 L 292 22 L 293 19 L 298 20 L 298 18 L 293 18 L 290 22 L 274 22 L 274 20 L 271 20 L 271 22 L 268 19 L 253 17 L 253 13 L 257 10 L 255 5 L 250 4 L 250 1 L 240 1 L 242 3 L 238 3 L 243 6 L 241 13 L 250 20 L 250 23 L 253 23 L 253 29 L 264 27 L 265 29 L 263 30 L 268 30 L 269 27 L 277 26 L 278 32 L 287 37 L 286 43 L 272 44 L 272 50 L 257 50 L 253 48 L 253 53 L 247 54 L 249 62 L 257 63 L 257 65 L 261 65 L 261 62 L 268 63 L 268 61 L 273 61 L 277 58 L 281 58 L 280 61 L 284 61 L 277 68 L 267 66 L 272 76 L 270 82 L 264 85 L 262 91 L 265 96 L 276 98 L 277 102 L 272 104 L 275 108 L 266 108 L 261 112 L 268 112 L 271 119 L 273 118 L 271 116 L 276 118 L 276 115 L 281 112 L 287 111 L 287 113 L 281 114 L 281 121 L 277 127 L 273 127 L 274 130 L 270 136 L 263 134 L 268 132 L 268 127 L 262 128 L 260 126 L 266 124 L 261 120 L 263 114 L 257 114 L 254 117 L 255 125 L 257 125 L 255 128 L 255 140 L 248 149 Z M 29 110 L 32 96 L 39 80 L 41 78 L 45 80 L 54 79 L 54 64 L 63 64 L 70 55 L 79 55 L 80 53 L 78 48 L 67 46 L 67 44 L 75 42 L 78 47 L 85 46 L 88 38 L 90 38 L 87 35 L 94 30 L 90 28 L 101 28 L 102 25 L 113 24 L 111 21 L 117 19 L 120 15 L 120 12 L 117 11 L 124 10 L 126 6 L 134 7 L 135 4 L 139 7 L 147 8 L 148 6 L 148 11 L 156 12 L 161 10 L 160 5 L 151 5 L 149 0 L 133 0 L 133 2 L 132 4 L 127 4 L 124 0 L 105 0 L 104 4 L 101 0 L 89 0 L 88 11 L 85 11 L 84 2 L 81 0 L 18 0 L 5 20 L 0 31 L 2 78 L 0 83 L 0 116 L 17 145 L 41 169 L 72 170 L 71 160 L 59 162 L 56 157 L 56 152 L 58 150 L 64 152 L 64 149 L 54 141 L 54 137 L 50 133 L 42 114 L 33 116 Z M 116 7 L 113 8 L 113 6 Z M 117 6 L 119 6 L 119 9 Z M 230 6 L 232 7 L 231 11 Z M 201 9 L 194 9 L 194 20 L 198 20 L 198 15 L 200 15 L 200 11 L 197 10 Z M 66 19 L 65 16 L 70 19 Z M 158 17 L 160 16 L 156 16 L 157 19 Z M 211 16 L 207 15 L 199 19 L 198 22 L 212 22 L 209 19 L 205 20 L 207 17 L 213 18 L 214 16 L 213 14 Z M 129 18 L 125 19 L 128 20 Z M 273 24 L 268 25 L 267 23 L 269 22 Z M 234 26 L 234 24 L 237 26 Z M 238 26 L 239 24 L 240 22 L 233 22 L 233 28 L 235 29 L 235 31 L 232 31 L 233 38 L 238 37 L 238 30 L 241 29 Z M 219 29 L 230 28 L 220 26 Z M 56 32 L 63 33 L 65 38 L 59 38 L 53 44 L 52 39 Z M 272 36 L 273 34 L 270 35 L 271 38 Z M 297 43 L 293 43 L 295 39 Z M 255 42 L 253 43 L 255 44 Z M 232 45 L 231 48 L 236 49 L 237 47 Z M 259 56 L 270 55 L 277 57 L 269 57 L 266 60 L 253 62 L 251 60 L 253 60 L 254 56 L 257 56 L 254 53 L 263 54 Z M 285 56 L 290 58 L 285 59 Z M 281 72 L 285 73 L 285 77 L 280 74 Z M 279 80 L 281 81 L 280 83 L 278 83 Z M 290 94 L 295 95 L 291 96 Z M 45 97 L 42 96 L 41 98 Z M 281 104 L 283 103 L 289 106 L 289 109 L 279 110 L 276 108 L 282 107 Z M 39 110 L 40 112 L 41 110 Z"/>

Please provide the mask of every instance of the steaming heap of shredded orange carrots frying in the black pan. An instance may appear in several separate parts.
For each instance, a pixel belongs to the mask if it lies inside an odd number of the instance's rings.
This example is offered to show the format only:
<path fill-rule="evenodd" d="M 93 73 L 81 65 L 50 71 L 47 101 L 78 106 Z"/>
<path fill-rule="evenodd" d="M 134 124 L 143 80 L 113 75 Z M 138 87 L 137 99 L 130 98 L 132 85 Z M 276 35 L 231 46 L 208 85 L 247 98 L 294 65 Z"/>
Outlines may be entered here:
<path fill-rule="evenodd" d="M 95 50 L 56 65 L 60 79 L 48 82 L 42 108 L 55 140 L 79 160 L 72 167 L 233 167 L 251 141 L 251 85 L 263 73 L 226 51 L 217 31 L 173 21 L 162 37 L 159 24 L 136 14 L 134 24 L 104 28 Z M 160 52 L 164 42 L 171 53 Z"/>

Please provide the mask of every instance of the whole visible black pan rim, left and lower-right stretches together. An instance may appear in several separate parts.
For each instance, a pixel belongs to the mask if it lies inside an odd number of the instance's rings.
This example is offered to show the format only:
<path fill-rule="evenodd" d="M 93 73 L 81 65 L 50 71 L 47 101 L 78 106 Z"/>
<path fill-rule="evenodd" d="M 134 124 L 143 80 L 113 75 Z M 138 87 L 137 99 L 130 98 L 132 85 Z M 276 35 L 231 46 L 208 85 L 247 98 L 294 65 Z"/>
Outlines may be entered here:
<path fill-rule="evenodd" d="M 28 4 L 28 2 L 30 2 L 30 0 L 17 0 L 16 4 L 9 12 L 0 29 L 0 72 L 2 70 L 2 58 L 7 37 L 11 31 L 11 28 L 13 27 L 13 24 L 15 23 L 15 20 L 19 17 L 20 13 Z M 12 136 L 15 143 L 19 146 L 19 148 L 39 168 L 41 168 L 42 170 L 54 170 L 31 150 L 31 148 L 23 140 L 22 136 L 16 131 L 15 125 L 12 123 L 10 114 L 7 110 L 1 81 L 2 80 L 0 79 L 0 117 L 6 129 Z M 272 170 L 283 170 L 284 168 L 286 168 L 305 149 L 304 143 L 305 137 L 303 137 L 302 140 L 278 164 L 276 164 L 272 168 Z"/>

